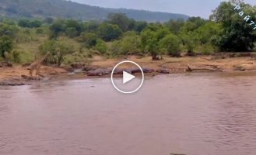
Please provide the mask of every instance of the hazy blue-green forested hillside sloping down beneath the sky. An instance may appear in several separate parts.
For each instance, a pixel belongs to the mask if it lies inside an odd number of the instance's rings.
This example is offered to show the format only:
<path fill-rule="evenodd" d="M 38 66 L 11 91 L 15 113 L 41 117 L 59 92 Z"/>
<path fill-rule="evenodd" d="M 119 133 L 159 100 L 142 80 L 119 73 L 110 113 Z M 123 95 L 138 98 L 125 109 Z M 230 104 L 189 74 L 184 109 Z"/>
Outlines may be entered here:
<path fill-rule="evenodd" d="M 121 12 L 135 20 L 147 22 L 166 22 L 169 19 L 188 19 L 188 15 L 174 13 L 148 12 L 132 9 L 104 9 L 82 5 L 66 0 L 1 0 L 0 15 L 12 19 L 20 18 L 64 18 L 82 21 L 107 19 L 110 12 Z"/>

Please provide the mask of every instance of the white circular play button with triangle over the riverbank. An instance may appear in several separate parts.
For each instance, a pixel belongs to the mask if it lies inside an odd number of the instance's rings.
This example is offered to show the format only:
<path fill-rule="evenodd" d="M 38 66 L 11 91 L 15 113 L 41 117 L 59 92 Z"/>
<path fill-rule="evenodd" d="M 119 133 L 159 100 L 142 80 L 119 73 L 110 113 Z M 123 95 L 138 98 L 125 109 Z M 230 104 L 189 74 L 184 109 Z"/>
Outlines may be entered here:
<path fill-rule="evenodd" d="M 142 67 L 130 60 L 121 61 L 111 72 L 111 82 L 117 91 L 132 94 L 138 91 L 144 82 Z"/>

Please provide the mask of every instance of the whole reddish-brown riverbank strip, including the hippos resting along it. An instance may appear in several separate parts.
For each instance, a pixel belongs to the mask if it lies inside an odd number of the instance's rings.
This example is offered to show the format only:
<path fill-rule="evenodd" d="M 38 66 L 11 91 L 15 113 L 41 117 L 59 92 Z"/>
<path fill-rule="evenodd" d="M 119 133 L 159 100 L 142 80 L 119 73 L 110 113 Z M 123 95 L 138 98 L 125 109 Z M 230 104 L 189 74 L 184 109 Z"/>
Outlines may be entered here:
<path fill-rule="evenodd" d="M 145 70 L 150 70 L 146 76 L 156 74 L 182 74 L 186 72 L 256 72 L 256 60 L 251 57 L 229 57 L 215 59 L 209 57 L 163 57 L 163 60 L 152 60 L 151 57 L 130 56 L 125 59 L 104 59 L 93 57 L 89 66 L 83 64 L 73 67 L 41 67 L 43 80 L 76 79 L 91 77 L 110 77 L 112 68 L 122 60 L 132 60 Z M 129 66 L 124 66 L 129 68 Z M 95 71 L 97 74 L 88 74 Z M 102 74 L 100 71 L 106 72 Z M 12 67 L 0 67 L 0 85 L 24 85 L 33 81 L 23 79 L 22 75 L 29 75 L 26 67 L 13 65 Z M 93 76 L 91 76 L 93 75 Z"/>

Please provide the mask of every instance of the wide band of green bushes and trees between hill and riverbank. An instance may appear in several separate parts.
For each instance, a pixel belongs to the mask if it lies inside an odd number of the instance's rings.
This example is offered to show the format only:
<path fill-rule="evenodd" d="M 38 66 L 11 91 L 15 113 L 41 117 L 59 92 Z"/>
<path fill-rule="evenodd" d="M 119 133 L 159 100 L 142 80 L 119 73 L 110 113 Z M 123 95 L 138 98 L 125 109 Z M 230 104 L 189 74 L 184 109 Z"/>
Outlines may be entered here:
<path fill-rule="evenodd" d="M 16 63 L 29 63 L 51 52 L 47 62 L 86 62 L 98 54 L 123 57 L 130 54 L 163 54 L 173 57 L 212 54 L 219 51 L 255 50 L 256 30 L 234 11 L 234 3 L 222 2 L 209 20 L 191 17 L 168 22 L 139 22 L 122 13 L 110 13 L 103 22 L 75 19 L 2 19 L 0 57 Z M 252 17 L 256 7 L 240 2 Z"/>

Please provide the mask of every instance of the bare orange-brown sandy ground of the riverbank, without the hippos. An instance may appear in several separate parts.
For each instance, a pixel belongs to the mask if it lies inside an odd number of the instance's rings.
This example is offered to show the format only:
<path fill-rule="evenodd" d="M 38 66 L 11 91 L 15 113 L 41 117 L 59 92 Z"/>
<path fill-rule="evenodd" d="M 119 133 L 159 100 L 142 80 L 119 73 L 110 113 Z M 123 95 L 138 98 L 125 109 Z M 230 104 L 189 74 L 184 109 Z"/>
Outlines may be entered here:
<path fill-rule="evenodd" d="M 138 63 L 141 67 L 151 68 L 157 70 L 168 70 L 170 74 L 181 74 L 188 71 L 188 66 L 195 71 L 193 72 L 253 72 L 256 71 L 256 60 L 251 57 L 232 57 L 226 59 L 212 59 L 209 57 L 163 57 L 163 60 L 151 60 L 151 57 L 136 57 L 131 56 L 126 59 L 103 59 L 102 57 L 94 57 L 90 66 L 100 68 L 113 68 L 117 63 L 122 60 L 132 60 Z M 127 66 L 129 67 L 129 66 Z M 186 71 L 187 70 L 187 71 Z M 70 74 L 64 67 L 41 67 L 41 74 L 47 79 L 69 79 L 69 78 L 86 78 L 88 77 L 85 72 L 81 74 Z M 155 75 L 156 72 L 146 74 Z M 21 65 L 14 65 L 13 67 L 0 67 L 0 81 L 10 81 L 15 79 L 22 81 L 21 75 L 29 75 L 29 71 L 26 67 Z M 97 76 L 96 76 L 97 77 Z M 106 75 L 104 77 L 109 77 Z M 23 81 L 26 84 L 28 81 Z M 21 83 L 21 84 L 23 84 Z M 0 83 L 1 84 L 1 83 Z"/>

